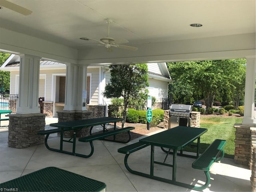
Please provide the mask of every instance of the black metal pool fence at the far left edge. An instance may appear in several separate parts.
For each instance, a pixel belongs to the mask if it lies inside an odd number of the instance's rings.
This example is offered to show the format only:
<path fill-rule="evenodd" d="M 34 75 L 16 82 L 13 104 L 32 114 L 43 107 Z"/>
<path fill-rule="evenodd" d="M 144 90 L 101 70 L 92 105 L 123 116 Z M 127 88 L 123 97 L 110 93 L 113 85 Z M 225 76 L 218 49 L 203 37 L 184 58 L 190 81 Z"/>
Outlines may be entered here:
<path fill-rule="evenodd" d="M 11 110 L 12 113 L 16 113 L 18 98 L 16 94 L 0 94 L 0 110 Z"/>

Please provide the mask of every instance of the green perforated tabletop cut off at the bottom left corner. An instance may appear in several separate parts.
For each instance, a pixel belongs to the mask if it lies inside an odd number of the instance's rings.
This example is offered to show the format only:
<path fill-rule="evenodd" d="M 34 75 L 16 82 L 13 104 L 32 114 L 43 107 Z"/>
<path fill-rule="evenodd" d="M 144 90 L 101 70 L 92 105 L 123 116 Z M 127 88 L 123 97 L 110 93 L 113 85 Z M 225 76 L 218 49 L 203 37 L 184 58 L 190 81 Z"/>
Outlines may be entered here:
<path fill-rule="evenodd" d="M 56 167 L 46 167 L 0 184 L 1 191 L 104 191 L 106 184 Z"/>

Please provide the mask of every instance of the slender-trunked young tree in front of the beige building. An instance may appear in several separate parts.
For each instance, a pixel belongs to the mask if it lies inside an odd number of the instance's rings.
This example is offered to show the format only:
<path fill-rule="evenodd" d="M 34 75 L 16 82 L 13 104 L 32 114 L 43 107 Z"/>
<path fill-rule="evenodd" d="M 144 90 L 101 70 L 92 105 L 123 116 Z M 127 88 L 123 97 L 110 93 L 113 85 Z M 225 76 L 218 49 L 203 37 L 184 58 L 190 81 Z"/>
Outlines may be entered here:
<path fill-rule="evenodd" d="M 106 84 L 103 95 L 106 98 L 124 98 L 123 128 L 132 100 L 140 99 L 141 94 L 146 94 L 148 66 L 147 64 L 111 65 L 110 72 L 110 82 Z"/>

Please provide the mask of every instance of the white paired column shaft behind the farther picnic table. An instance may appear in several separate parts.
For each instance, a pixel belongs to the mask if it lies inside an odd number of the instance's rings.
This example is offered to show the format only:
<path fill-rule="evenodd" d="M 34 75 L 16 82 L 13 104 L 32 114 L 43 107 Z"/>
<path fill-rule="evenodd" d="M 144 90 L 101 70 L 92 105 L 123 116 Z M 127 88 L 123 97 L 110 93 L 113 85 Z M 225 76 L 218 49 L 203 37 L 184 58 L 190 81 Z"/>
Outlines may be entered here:
<path fill-rule="evenodd" d="M 77 64 L 66 64 L 66 92 L 65 106 L 63 110 L 87 110 L 86 91 L 87 66 Z"/>

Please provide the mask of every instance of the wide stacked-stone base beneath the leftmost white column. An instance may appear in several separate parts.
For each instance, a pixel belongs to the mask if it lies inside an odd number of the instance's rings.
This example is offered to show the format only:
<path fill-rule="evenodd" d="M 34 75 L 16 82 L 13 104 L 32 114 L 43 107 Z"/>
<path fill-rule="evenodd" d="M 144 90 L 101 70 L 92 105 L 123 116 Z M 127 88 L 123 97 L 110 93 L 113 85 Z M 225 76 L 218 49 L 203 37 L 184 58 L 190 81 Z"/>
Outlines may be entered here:
<path fill-rule="evenodd" d="M 45 127 L 45 114 L 9 114 L 8 147 L 26 148 L 44 143 L 38 135 Z"/>

